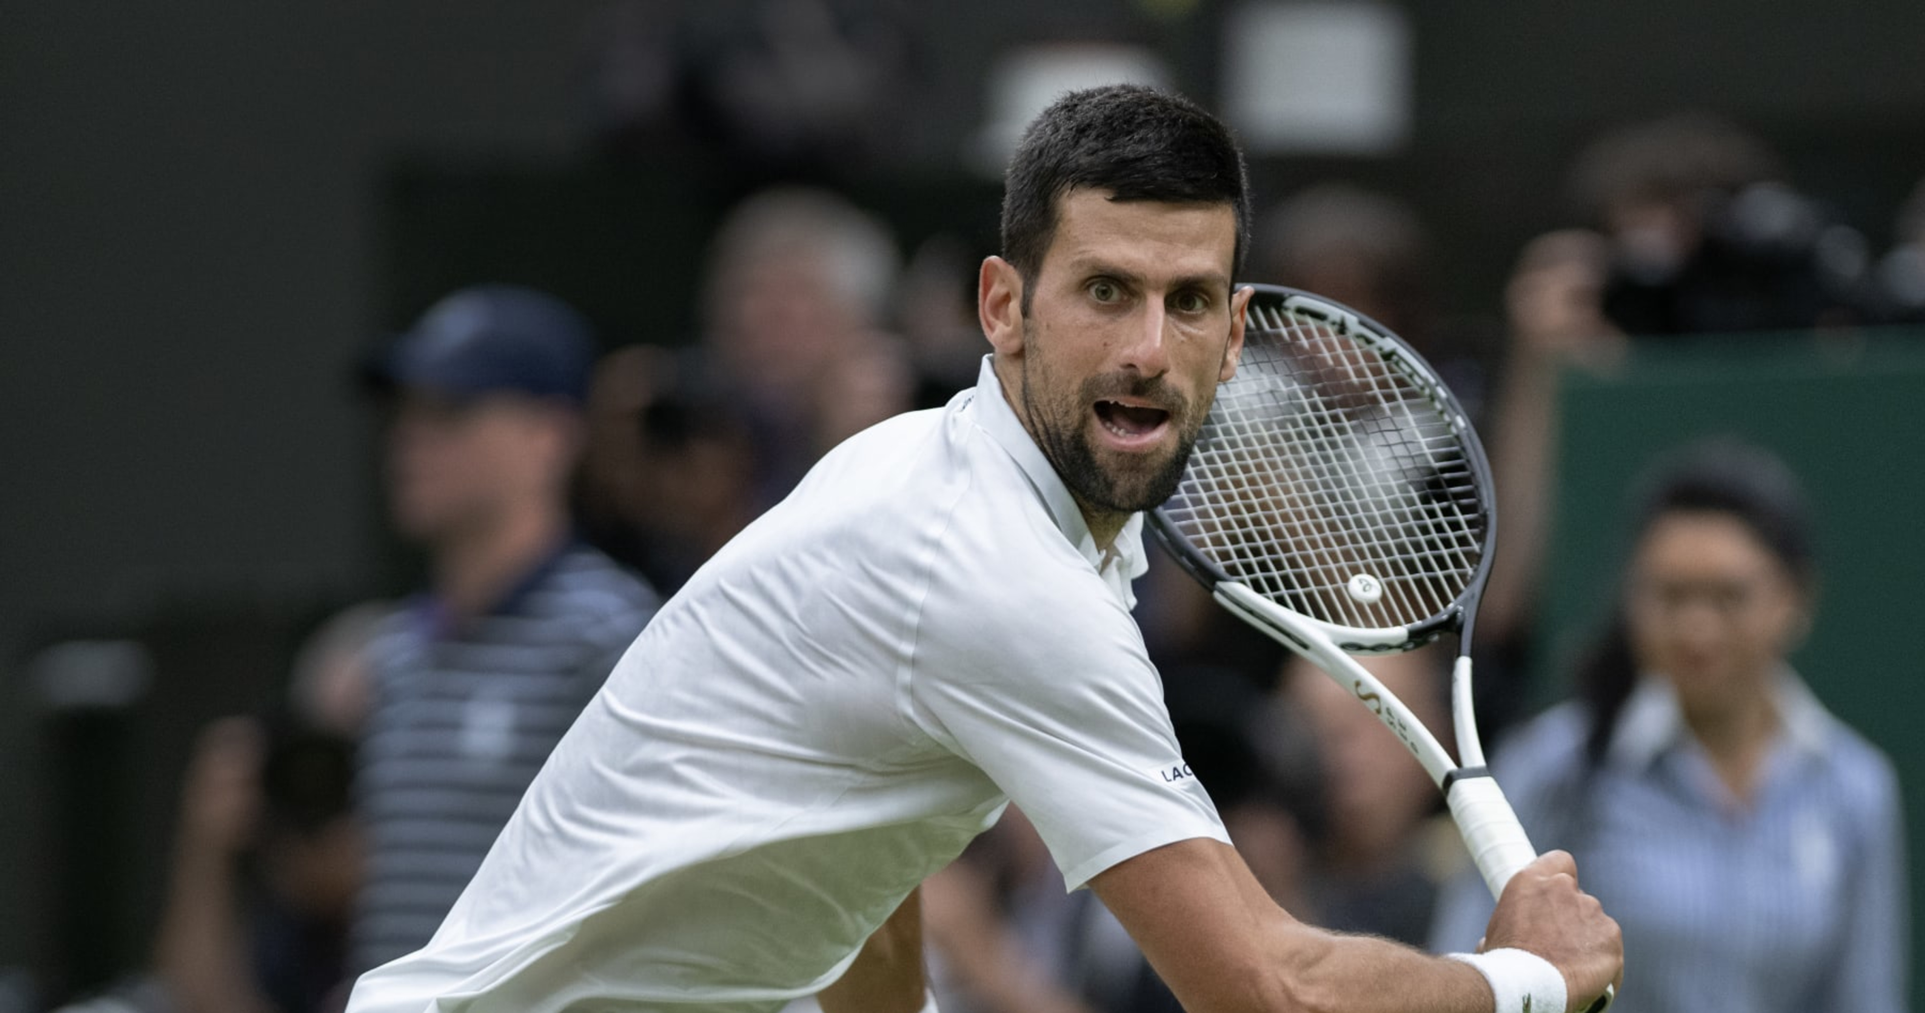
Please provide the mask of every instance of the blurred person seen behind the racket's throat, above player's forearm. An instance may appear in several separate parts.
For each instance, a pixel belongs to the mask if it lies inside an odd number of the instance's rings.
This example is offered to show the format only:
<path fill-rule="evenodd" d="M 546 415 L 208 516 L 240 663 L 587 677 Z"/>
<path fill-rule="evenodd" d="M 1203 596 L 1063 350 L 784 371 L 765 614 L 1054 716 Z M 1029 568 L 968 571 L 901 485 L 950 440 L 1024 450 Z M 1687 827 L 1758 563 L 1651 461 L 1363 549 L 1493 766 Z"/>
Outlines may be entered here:
<path fill-rule="evenodd" d="M 1432 730 L 1450 728 L 1436 649 L 1359 659 Z M 1324 828 L 1301 917 L 1324 928 L 1423 946 L 1438 886 L 1463 847 L 1411 751 L 1367 707 L 1311 662 L 1292 657 L 1290 711 L 1307 724 L 1324 772 Z M 1292 909 L 1297 911 L 1297 909 Z"/>

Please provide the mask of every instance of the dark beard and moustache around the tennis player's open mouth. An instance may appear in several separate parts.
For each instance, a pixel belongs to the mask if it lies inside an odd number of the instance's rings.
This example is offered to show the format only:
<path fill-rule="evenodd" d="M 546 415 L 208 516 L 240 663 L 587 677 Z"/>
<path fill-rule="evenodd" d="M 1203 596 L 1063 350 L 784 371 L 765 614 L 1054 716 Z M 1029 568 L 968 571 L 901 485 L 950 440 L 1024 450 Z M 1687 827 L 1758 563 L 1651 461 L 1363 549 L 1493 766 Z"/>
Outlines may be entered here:
<path fill-rule="evenodd" d="M 1041 370 L 1030 358 L 1022 362 L 1022 406 L 1034 428 L 1036 443 L 1043 456 L 1055 466 L 1063 485 L 1070 489 L 1086 508 L 1134 514 L 1161 506 L 1176 495 L 1176 485 L 1190 466 L 1190 451 L 1195 449 L 1197 433 L 1203 429 L 1203 410 L 1190 399 L 1170 389 L 1163 377 L 1132 379 L 1122 374 L 1090 377 L 1076 391 L 1076 397 L 1059 397 L 1051 403 L 1040 401 L 1047 395 L 1041 383 Z M 1153 455 L 1109 455 L 1116 458 L 1105 464 L 1097 445 L 1090 435 L 1090 406 L 1101 399 L 1140 397 L 1170 414 L 1170 429 L 1176 431 L 1176 447 L 1161 458 Z"/>

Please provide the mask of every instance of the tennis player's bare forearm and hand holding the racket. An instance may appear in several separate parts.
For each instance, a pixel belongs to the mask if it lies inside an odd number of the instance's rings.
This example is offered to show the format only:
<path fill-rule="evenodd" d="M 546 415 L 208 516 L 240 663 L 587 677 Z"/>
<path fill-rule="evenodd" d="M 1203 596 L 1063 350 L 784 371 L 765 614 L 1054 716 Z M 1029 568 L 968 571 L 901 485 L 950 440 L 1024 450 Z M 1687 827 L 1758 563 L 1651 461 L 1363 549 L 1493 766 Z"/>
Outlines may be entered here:
<path fill-rule="evenodd" d="M 1563 853 L 1519 872 L 1488 948 L 1530 949 L 1563 971 L 1569 996 L 1588 998 L 1615 978 L 1623 949 L 1617 924 L 1578 892 L 1573 872 Z M 1090 886 L 1192 1013 L 1490 1013 L 1494 1003 L 1465 963 L 1292 919 L 1220 842 L 1145 851 Z"/>

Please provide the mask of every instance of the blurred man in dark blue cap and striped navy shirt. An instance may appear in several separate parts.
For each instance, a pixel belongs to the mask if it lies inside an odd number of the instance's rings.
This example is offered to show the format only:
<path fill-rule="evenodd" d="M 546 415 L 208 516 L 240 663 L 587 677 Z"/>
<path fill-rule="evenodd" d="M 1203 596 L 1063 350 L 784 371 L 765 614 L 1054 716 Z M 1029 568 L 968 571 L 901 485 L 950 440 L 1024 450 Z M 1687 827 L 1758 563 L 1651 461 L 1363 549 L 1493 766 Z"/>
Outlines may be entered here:
<path fill-rule="evenodd" d="M 572 308 L 495 285 L 443 299 L 368 366 L 389 506 L 431 585 L 368 649 L 356 973 L 427 942 L 654 610 L 570 528 L 591 358 Z"/>

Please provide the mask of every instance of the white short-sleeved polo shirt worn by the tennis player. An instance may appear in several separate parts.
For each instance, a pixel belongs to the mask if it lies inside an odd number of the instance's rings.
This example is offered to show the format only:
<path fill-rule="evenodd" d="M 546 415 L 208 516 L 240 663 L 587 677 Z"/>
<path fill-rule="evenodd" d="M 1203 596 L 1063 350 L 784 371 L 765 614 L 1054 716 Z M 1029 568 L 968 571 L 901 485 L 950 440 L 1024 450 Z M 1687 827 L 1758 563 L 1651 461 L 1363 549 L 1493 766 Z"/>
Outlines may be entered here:
<path fill-rule="evenodd" d="M 1109 557 L 1003 401 L 849 439 L 654 616 L 425 949 L 350 1013 L 762 1013 L 1014 801 L 1070 888 L 1228 842 Z"/>

